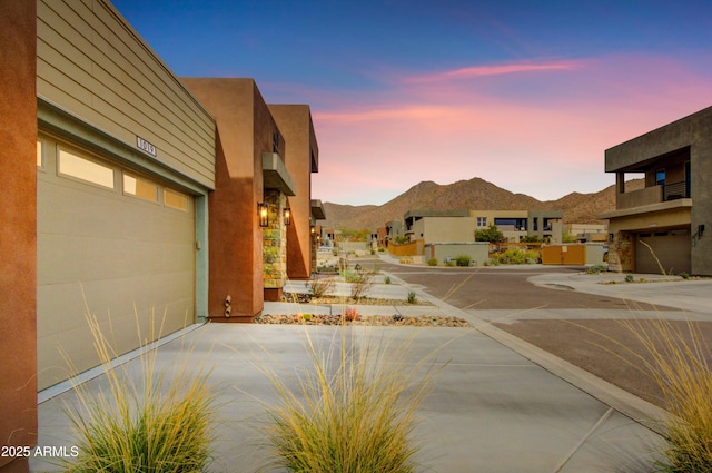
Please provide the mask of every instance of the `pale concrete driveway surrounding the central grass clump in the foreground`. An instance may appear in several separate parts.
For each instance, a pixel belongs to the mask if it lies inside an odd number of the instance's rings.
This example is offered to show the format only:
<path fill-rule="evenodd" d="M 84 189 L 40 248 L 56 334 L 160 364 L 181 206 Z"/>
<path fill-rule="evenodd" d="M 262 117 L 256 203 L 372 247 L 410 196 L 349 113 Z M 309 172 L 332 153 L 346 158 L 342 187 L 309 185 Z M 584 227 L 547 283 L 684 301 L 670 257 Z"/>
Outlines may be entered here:
<path fill-rule="evenodd" d="M 492 326 L 472 307 L 455 307 L 423 285 L 400 283 L 400 276 L 393 270 L 395 284 L 384 290 L 394 297 L 416 290 L 434 304 L 419 311 L 462 316 L 476 328 L 208 324 L 159 348 L 159 366 L 176 363 L 181 347 L 192 344 L 190 363 L 214 367 L 211 380 L 221 394 L 210 471 L 254 472 L 268 462 L 259 428 L 266 422 L 265 406 L 277 398 L 264 371 L 293 376 L 306 366 L 307 334 L 325 349 L 338 344 L 342 334 L 357 347 L 374 338 L 396 344 L 407 339 L 414 363 L 437 349 L 434 359 L 447 365 L 418 411 L 418 471 L 655 471 L 662 438 L 654 428 L 664 412 Z M 556 294 L 568 293 L 552 290 L 552 302 Z M 615 307 L 615 302 L 601 304 Z M 267 304 L 265 312 L 291 308 Z M 123 366 L 138 373 L 136 359 Z M 90 383 L 98 388 L 103 380 Z M 73 445 L 61 413 L 72 397 L 69 391 L 39 405 L 40 445 Z M 52 471 L 40 459 L 31 465 L 32 471 Z"/>

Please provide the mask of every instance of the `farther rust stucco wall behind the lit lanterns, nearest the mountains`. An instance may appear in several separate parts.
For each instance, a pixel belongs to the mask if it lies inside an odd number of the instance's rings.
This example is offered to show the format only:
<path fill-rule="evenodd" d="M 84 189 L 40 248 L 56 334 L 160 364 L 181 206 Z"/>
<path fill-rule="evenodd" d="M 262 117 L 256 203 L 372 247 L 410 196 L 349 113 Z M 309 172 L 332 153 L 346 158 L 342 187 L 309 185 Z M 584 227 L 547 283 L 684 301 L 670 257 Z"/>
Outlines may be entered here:
<path fill-rule="evenodd" d="M 308 279 L 312 276 L 312 173 L 319 149 L 307 105 L 269 105 L 286 141 L 285 166 L 296 183 L 296 195 L 288 198 L 293 224 L 287 227 L 287 276 Z"/>

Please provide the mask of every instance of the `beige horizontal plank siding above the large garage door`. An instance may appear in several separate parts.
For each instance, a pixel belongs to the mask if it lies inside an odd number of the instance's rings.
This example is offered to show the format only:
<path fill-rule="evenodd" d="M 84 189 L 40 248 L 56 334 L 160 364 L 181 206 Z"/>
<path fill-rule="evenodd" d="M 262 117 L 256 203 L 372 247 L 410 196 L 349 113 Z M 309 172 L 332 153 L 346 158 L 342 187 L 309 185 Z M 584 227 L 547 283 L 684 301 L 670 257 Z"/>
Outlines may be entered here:
<path fill-rule="evenodd" d="M 102 0 L 39 0 L 37 93 L 87 124 L 215 188 L 215 120 Z"/>

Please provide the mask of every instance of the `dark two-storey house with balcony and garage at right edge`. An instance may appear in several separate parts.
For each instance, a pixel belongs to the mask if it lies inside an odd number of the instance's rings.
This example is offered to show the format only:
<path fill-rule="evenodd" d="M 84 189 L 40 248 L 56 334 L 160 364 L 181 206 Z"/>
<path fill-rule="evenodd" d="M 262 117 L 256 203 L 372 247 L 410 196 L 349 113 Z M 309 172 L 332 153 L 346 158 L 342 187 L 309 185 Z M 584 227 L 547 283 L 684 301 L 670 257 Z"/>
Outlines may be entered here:
<path fill-rule="evenodd" d="M 612 270 L 712 275 L 712 107 L 605 151 Z M 626 175 L 645 188 L 626 191 Z"/>

